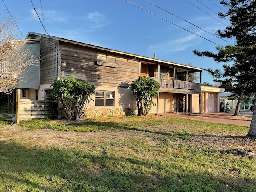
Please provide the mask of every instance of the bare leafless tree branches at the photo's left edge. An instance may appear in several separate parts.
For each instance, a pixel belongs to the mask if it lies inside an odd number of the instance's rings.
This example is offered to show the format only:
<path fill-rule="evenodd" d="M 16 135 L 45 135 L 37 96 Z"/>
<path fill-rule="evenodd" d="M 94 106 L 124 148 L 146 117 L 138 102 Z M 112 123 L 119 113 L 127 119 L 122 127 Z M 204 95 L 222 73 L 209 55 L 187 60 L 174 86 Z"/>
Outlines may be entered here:
<path fill-rule="evenodd" d="M 0 92 L 10 93 L 26 78 L 26 68 L 38 59 L 31 50 L 24 48 L 26 40 L 17 40 L 17 21 L 3 16 L 0 22 Z"/>

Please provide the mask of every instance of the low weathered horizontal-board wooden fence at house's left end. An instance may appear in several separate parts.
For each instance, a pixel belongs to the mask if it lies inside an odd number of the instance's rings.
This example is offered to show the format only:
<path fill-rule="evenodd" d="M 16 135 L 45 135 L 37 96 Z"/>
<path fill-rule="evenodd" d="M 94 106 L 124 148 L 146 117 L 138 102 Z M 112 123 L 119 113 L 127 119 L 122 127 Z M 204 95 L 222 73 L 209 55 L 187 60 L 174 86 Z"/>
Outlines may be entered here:
<path fill-rule="evenodd" d="M 54 118 L 56 108 L 56 103 L 52 101 L 20 99 L 19 120 Z"/>

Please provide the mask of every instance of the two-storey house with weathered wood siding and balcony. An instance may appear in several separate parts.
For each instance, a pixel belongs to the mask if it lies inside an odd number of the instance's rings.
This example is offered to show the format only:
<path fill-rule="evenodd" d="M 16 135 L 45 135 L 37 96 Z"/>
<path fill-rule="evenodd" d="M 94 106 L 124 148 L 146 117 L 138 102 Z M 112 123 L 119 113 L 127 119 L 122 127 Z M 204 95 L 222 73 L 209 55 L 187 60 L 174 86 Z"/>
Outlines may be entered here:
<path fill-rule="evenodd" d="M 27 84 L 31 80 L 39 81 L 39 85 L 19 87 L 26 99 L 50 100 L 51 84 L 60 78 L 73 76 L 96 88 L 86 117 L 136 114 L 136 100 L 128 85 L 139 76 L 146 76 L 160 83 L 158 97 L 154 98 L 156 106 L 150 113 L 205 111 L 201 68 L 159 60 L 156 54 L 150 58 L 34 32 L 29 32 L 26 40 L 40 40 L 41 58 L 37 80 L 27 78 L 26 81 Z M 190 73 L 199 76 L 200 82 L 189 82 Z M 30 93 L 29 96 L 23 94 L 24 90 Z M 214 91 L 212 108 L 218 112 L 215 97 L 220 90 Z M 209 98 L 203 94 L 203 99 Z"/>

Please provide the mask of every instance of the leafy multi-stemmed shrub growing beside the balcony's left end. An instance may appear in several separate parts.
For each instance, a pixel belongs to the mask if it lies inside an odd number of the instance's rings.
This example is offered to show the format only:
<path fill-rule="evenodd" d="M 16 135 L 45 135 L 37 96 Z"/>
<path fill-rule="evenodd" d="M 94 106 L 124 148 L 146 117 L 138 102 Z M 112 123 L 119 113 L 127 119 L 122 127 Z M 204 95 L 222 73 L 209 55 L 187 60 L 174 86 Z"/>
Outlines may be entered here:
<path fill-rule="evenodd" d="M 160 84 L 152 78 L 140 76 L 130 86 L 137 101 L 138 116 L 147 116 L 151 107 L 156 105 L 153 98 L 158 96 Z"/>

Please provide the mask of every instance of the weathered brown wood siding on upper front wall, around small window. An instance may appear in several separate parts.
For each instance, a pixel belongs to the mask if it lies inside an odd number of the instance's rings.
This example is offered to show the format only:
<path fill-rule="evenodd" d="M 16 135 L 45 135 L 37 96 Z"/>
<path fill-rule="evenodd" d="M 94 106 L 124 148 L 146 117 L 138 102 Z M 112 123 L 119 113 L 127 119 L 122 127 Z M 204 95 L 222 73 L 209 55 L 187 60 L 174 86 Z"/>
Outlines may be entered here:
<path fill-rule="evenodd" d="M 61 78 L 73 76 L 93 85 L 118 86 L 138 79 L 140 62 L 116 55 L 116 67 L 96 64 L 97 51 L 66 42 L 61 44 Z"/>

